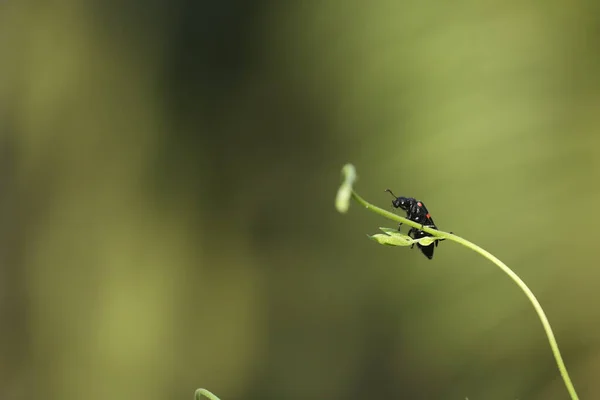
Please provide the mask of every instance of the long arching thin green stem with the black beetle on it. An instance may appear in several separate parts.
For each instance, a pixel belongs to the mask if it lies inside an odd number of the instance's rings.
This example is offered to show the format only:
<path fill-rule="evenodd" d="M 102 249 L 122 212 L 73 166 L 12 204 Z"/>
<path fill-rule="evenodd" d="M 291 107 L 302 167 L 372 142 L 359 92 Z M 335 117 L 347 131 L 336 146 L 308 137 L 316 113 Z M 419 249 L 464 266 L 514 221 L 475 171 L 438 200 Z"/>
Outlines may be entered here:
<path fill-rule="evenodd" d="M 417 222 L 411 221 L 407 218 L 403 218 L 399 215 L 396 215 L 394 213 L 386 211 L 382 208 L 376 207 L 376 206 L 368 203 L 362 197 L 360 197 L 354 190 L 352 190 L 352 198 L 354 198 L 354 200 L 356 200 L 359 204 L 361 204 L 368 210 L 371 210 L 375 214 L 379 214 L 379 215 L 381 215 L 387 219 L 390 219 L 392 221 L 400 222 L 402 224 L 406 224 L 406 225 L 412 226 L 414 228 L 418 228 L 422 231 L 432 234 L 433 236 L 452 240 L 456 243 L 460 243 L 463 246 L 468 247 L 469 249 L 481 254 L 482 256 L 484 256 L 485 258 L 487 258 L 488 260 L 490 260 L 491 262 L 496 264 L 502 271 L 504 271 L 521 288 L 521 290 L 523 291 L 523 293 L 525 293 L 525 295 L 527 296 L 527 298 L 529 299 L 531 304 L 533 304 L 533 308 L 535 309 L 535 312 L 537 313 L 538 317 L 540 318 L 540 321 L 542 322 L 544 331 L 546 331 L 546 336 L 548 337 L 548 342 L 550 343 L 550 348 L 552 349 L 552 353 L 554 354 L 554 358 L 556 359 L 556 365 L 558 366 L 558 370 L 560 371 L 563 381 L 565 382 L 565 386 L 567 387 L 567 390 L 569 391 L 571 399 L 573 399 L 573 400 L 579 399 L 579 397 L 577 396 L 577 392 L 575 392 L 575 387 L 573 386 L 573 383 L 571 382 L 571 378 L 569 377 L 569 373 L 567 372 L 567 367 L 565 367 L 565 363 L 560 354 L 560 350 L 558 349 L 558 343 L 556 342 L 556 338 L 554 337 L 554 333 L 552 332 L 552 327 L 550 326 L 548 317 L 546 317 L 546 313 L 542 309 L 542 306 L 540 305 L 539 301 L 537 300 L 537 298 L 535 297 L 535 295 L 533 294 L 531 289 L 529 289 L 529 287 L 527 287 L 525 282 L 523 282 L 523 280 L 521 278 L 519 278 L 519 276 L 516 273 L 514 273 L 513 270 L 508 268 L 508 266 L 506 264 L 504 264 L 502 261 L 500 261 L 498 258 L 496 258 L 493 254 L 482 249 L 481 247 L 477 246 L 476 244 L 469 242 L 468 240 L 465 240 L 459 236 L 453 235 L 448 232 L 443 232 L 443 231 L 429 228 L 427 226 L 422 226 L 421 224 L 419 224 Z"/>

